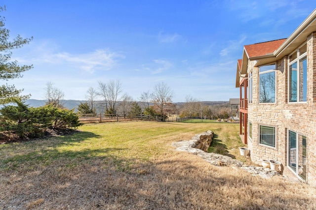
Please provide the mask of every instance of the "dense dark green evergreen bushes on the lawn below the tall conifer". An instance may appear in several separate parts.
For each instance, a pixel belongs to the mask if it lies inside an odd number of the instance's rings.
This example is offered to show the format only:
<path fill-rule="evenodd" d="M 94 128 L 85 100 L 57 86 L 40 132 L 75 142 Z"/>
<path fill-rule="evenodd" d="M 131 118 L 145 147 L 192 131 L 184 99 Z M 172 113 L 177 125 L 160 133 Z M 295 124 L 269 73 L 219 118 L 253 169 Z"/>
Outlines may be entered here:
<path fill-rule="evenodd" d="M 9 105 L 0 110 L 0 131 L 8 131 L 20 138 L 40 137 L 47 128 L 77 128 L 78 116 L 73 110 L 65 110 L 51 105 L 38 108 L 28 107 L 21 101 L 17 106 Z"/>

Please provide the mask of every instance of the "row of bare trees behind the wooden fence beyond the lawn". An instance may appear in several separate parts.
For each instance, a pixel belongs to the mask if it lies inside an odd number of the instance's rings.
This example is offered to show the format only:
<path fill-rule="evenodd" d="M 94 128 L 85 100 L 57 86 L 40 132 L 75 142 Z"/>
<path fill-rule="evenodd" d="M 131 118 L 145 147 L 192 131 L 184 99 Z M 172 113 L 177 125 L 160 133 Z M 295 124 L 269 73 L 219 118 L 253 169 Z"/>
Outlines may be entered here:
<path fill-rule="evenodd" d="M 173 94 L 173 90 L 161 82 L 155 85 L 152 91 L 144 91 L 139 98 L 134 99 L 123 92 L 119 80 L 98 81 L 97 88 L 88 88 L 85 94 L 86 102 L 81 102 L 77 109 L 79 114 L 92 114 L 94 116 L 100 113 L 122 114 L 124 116 L 145 114 L 162 121 L 171 116 L 200 119 L 228 119 L 231 117 L 228 103 L 207 105 L 191 95 L 187 95 L 185 103 L 177 105 L 172 102 Z M 44 95 L 46 105 L 63 108 L 64 95 L 64 92 L 54 87 L 53 83 L 46 84 Z"/>

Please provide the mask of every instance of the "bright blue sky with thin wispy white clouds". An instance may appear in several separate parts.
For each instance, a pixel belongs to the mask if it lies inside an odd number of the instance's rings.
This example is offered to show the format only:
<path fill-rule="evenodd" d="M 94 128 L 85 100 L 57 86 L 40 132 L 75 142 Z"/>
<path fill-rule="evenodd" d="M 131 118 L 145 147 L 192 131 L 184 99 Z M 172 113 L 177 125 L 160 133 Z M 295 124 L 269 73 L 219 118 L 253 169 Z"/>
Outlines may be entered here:
<path fill-rule="evenodd" d="M 238 98 L 243 45 L 287 38 L 316 8 L 311 0 L 2 0 L 12 50 L 33 64 L 8 81 L 44 99 L 47 82 L 84 99 L 97 82 L 120 80 L 134 99 L 166 83 L 174 102 Z M 4 81 L 5 82 L 5 81 Z M 2 82 L 1 82 L 2 83 Z"/>

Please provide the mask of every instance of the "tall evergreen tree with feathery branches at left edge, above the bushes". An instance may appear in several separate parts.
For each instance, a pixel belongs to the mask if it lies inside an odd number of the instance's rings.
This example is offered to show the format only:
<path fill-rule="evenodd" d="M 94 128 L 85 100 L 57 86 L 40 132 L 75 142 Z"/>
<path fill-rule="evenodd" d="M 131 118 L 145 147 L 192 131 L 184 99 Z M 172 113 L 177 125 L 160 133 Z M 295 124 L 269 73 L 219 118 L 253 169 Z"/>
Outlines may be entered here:
<path fill-rule="evenodd" d="M 5 11 L 5 6 L 0 6 L 0 12 Z M 5 18 L 0 16 L 0 80 L 9 80 L 22 77 L 21 73 L 32 68 L 32 65 L 18 65 L 17 61 L 11 61 L 12 53 L 10 50 L 21 48 L 24 44 L 28 44 L 31 38 L 22 38 L 20 35 L 12 41 L 9 40 L 10 30 L 4 28 Z M 0 85 L 0 104 L 23 100 L 30 95 L 21 95 L 23 90 L 17 90 L 14 85 Z"/>

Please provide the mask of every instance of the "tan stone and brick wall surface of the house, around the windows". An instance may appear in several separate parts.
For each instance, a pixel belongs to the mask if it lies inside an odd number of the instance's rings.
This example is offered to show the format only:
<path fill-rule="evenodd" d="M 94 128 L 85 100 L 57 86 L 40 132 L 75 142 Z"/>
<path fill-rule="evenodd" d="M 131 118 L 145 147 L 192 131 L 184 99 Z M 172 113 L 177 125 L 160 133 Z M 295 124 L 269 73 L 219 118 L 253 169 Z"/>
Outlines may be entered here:
<path fill-rule="evenodd" d="M 316 185 L 316 32 L 307 38 L 308 95 L 307 103 L 288 103 L 287 56 L 276 62 L 276 103 L 259 104 L 259 68 L 248 64 L 253 73 L 253 101 L 248 105 L 248 120 L 252 122 L 252 139 L 248 139 L 251 160 L 274 159 L 282 164 L 283 175 L 296 177 L 287 166 L 288 129 L 307 137 L 307 181 Z M 259 145 L 259 125 L 276 127 L 276 148 Z"/>

